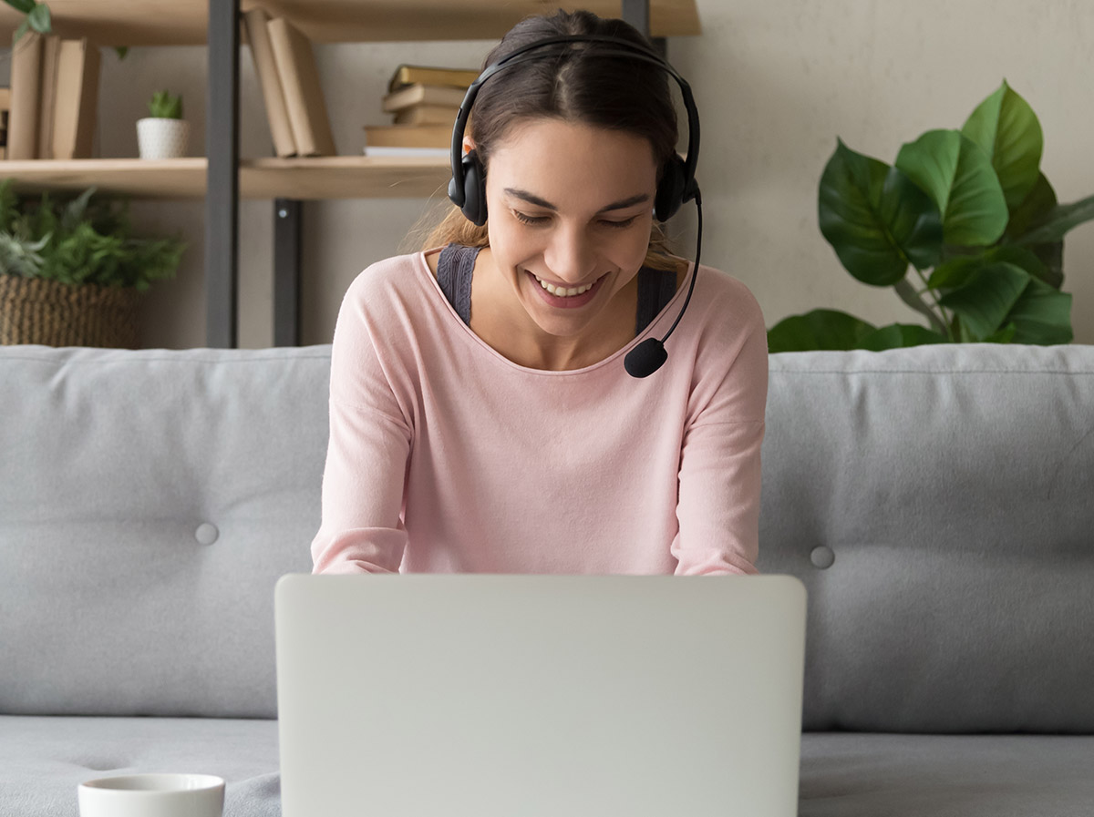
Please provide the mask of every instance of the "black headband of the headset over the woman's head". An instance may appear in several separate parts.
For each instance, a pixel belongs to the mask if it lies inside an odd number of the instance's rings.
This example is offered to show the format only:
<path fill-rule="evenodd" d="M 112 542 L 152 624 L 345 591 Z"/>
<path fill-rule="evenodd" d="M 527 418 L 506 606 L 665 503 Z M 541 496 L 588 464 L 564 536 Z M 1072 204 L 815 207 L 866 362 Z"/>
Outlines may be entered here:
<path fill-rule="evenodd" d="M 544 39 L 538 39 L 535 43 L 529 43 L 526 46 L 517 48 L 512 54 L 507 55 L 497 62 L 488 66 L 482 73 L 476 78 L 475 82 L 470 84 L 467 88 L 467 94 L 464 96 L 464 102 L 459 106 L 459 113 L 456 115 L 456 122 L 452 128 L 452 177 L 455 185 L 450 186 L 450 190 L 455 190 L 461 198 L 463 198 L 464 190 L 464 168 L 463 168 L 463 143 L 464 143 L 464 130 L 467 127 L 467 119 L 470 116 L 472 105 L 475 103 L 475 97 L 478 95 L 479 87 L 482 83 L 489 80 L 499 71 L 509 68 L 511 64 L 516 62 L 526 62 L 533 59 L 542 59 L 543 55 L 525 55 L 526 51 L 531 51 L 534 48 L 543 48 L 544 46 L 555 45 L 558 43 L 606 43 L 609 45 L 620 46 L 625 50 L 600 50 L 591 52 L 592 56 L 596 57 L 624 57 L 626 59 L 637 59 L 644 62 L 650 62 L 665 70 L 679 85 L 680 94 L 684 97 L 684 107 L 687 110 L 687 156 L 684 159 L 684 196 L 683 202 L 690 201 L 695 198 L 698 186 L 695 182 L 695 167 L 699 161 L 699 114 L 695 108 L 695 99 L 691 97 L 691 87 L 687 84 L 683 76 L 680 76 L 676 69 L 668 64 L 660 55 L 654 54 L 641 46 L 637 46 L 629 40 L 621 39 L 620 37 L 608 37 L 605 35 L 597 34 L 572 34 L 567 36 L 558 37 L 547 37 Z M 568 50 L 568 49 L 567 49 Z M 559 56 L 566 54 L 566 50 L 559 52 Z M 522 57 L 522 59 L 516 59 Z M 462 205 L 463 202 L 457 201 L 456 204 Z"/>

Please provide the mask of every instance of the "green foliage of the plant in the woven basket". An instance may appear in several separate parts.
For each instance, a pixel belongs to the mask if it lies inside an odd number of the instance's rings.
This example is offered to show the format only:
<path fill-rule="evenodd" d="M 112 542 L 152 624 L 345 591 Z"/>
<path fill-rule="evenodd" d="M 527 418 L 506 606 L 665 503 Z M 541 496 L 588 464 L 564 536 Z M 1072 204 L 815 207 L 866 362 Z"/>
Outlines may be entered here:
<path fill-rule="evenodd" d="M 173 277 L 185 242 L 133 236 L 128 202 L 94 192 L 34 199 L 18 196 L 11 179 L 0 180 L 0 273 L 140 292 Z"/>

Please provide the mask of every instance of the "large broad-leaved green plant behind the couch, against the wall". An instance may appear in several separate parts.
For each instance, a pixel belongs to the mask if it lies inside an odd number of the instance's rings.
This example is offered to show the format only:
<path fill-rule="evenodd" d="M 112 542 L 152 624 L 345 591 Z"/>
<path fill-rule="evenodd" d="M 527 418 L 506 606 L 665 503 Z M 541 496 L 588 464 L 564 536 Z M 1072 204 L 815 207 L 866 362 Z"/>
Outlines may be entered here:
<path fill-rule="evenodd" d="M 928 325 L 815 309 L 772 327 L 768 350 L 1070 343 L 1063 236 L 1094 218 L 1094 197 L 1057 202 L 1039 169 L 1043 141 L 1005 80 L 961 130 L 923 133 L 892 166 L 837 140 L 821 177 L 821 233 L 852 276 L 893 286 Z"/>

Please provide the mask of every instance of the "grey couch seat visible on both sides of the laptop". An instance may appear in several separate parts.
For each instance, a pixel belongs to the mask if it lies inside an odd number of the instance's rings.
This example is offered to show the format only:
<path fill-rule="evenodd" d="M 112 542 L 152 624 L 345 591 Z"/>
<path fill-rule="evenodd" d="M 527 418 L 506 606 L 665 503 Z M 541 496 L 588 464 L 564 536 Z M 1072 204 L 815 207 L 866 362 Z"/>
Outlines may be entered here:
<path fill-rule="evenodd" d="M 0 814 L 77 817 L 77 786 L 188 771 L 228 781 L 224 817 L 279 817 L 277 722 L 0 717 Z M 800 817 L 1086 817 L 1094 737 L 802 735 Z"/>

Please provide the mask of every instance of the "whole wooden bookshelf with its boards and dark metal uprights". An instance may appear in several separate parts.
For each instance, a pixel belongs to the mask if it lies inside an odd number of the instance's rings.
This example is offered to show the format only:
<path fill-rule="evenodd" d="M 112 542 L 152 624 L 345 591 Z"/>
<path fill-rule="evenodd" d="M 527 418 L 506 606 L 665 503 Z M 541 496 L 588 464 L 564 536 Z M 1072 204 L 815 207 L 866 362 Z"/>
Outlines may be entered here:
<path fill-rule="evenodd" d="M 240 198 L 274 200 L 274 345 L 299 338 L 301 202 L 316 199 L 444 197 L 447 157 L 238 156 L 240 14 L 261 7 L 286 17 L 312 43 L 497 40 L 526 16 L 556 8 L 622 17 L 655 45 L 700 33 L 696 0 L 48 0 L 54 33 L 102 47 L 205 45 L 203 157 L 171 161 L 90 158 L 0 161 L 0 178 L 24 192 L 101 191 L 153 199 L 205 198 L 206 332 L 212 347 L 237 343 Z M 23 14 L 0 3 L 0 42 L 10 43 Z M 237 170 L 237 173 L 236 173 Z"/>

